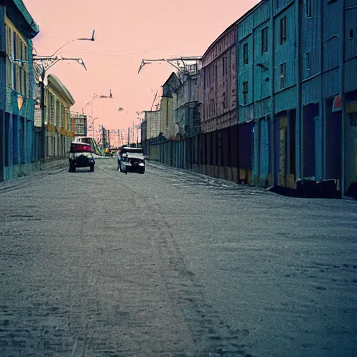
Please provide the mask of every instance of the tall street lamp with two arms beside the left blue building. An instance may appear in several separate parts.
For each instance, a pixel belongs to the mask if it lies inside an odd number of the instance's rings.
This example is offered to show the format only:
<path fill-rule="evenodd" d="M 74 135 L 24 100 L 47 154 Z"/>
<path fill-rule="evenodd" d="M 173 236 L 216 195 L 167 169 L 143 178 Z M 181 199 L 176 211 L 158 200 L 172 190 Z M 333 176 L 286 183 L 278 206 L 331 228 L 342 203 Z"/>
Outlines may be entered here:
<path fill-rule="evenodd" d="M 74 38 L 73 40 L 68 41 L 68 43 L 71 43 L 75 40 L 90 40 L 94 41 L 94 31 L 92 33 L 91 38 Z M 61 50 L 61 48 L 65 47 L 68 45 L 68 43 L 65 43 L 63 46 L 59 47 L 58 50 L 56 50 L 53 54 L 50 56 L 38 56 L 37 54 L 33 54 L 33 62 L 35 63 L 34 69 L 36 74 L 38 75 L 38 78 L 40 79 L 40 88 L 41 88 L 41 93 L 40 93 L 40 109 L 41 109 L 41 160 L 45 160 L 45 75 L 46 71 L 54 66 L 58 61 L 77 61 L 81 66 L 84 67 L 86 70 L 86 65 L 84 64 L 83 59 L 73 59 L 73 58 L 64 58 L 63 56 L 61 58 L 54 55 Z"/>

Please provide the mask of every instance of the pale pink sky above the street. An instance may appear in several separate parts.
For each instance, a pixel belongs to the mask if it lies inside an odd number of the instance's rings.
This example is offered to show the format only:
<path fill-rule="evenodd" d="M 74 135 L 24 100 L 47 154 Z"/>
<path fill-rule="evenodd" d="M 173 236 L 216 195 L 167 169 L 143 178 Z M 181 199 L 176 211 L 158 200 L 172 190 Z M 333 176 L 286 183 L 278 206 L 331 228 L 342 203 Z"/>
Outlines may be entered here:
<path fill-rule="evenodd" d="M 40 26 L 33 46 L 40 55 L 50 55 L 74 38 L 91 37 L 94 42 L 73 41 L 57 55 L 79 57 L 76 62 L 59 61 L 48 73 L 59 77 L 72 94 L 77 112 L 91 115 L 93 95 L 114 99 L 93 100 L 96 126 L 127 129 L 139 123 L 136 112 L 150 110 L 155 92 L 174 68 L 166 62 L 144 66 L 142 59 L 171 56 L 202 56 L 222 31 L 255 6 L 258 0 L 23 0 Z M 158 98 L 160 99 L 160 98 Z M 86 105 L 86 106 L 85 106 Z M 123 107 L 119 112 L 116 108 Z"/>

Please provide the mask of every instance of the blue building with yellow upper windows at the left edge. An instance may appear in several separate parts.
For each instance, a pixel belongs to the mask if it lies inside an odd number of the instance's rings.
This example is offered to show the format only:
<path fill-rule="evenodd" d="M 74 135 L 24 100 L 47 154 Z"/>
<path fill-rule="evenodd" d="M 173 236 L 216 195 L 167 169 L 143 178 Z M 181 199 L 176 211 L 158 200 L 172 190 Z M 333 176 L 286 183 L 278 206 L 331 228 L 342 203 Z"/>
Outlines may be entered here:
<path fill-rule="evenodd" d="M 35 165 L 31 39 L 38 31 L 22 0 L 0 1 L 0 181 Z"/>

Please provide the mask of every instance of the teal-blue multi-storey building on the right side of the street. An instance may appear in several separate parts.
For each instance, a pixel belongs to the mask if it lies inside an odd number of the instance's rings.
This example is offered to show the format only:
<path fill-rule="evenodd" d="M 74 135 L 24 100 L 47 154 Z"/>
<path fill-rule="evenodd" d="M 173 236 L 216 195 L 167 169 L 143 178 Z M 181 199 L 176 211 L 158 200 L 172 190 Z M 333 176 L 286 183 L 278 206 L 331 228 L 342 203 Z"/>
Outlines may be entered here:
<path fill-rule="evenodd" d="M 357 181 L 357 1 L 266 0 L 237 22 L 240 167 L 257 185 Z"/>

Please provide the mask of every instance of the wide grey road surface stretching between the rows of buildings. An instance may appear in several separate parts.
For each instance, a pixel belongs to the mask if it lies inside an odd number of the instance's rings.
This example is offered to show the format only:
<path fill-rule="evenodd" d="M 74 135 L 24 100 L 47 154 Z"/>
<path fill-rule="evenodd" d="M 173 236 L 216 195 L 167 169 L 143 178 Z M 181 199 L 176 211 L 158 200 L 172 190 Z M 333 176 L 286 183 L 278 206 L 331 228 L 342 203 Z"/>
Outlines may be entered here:
<path fill-rule="evenodd" d="M 0 356 L 357 356 L 356 201 L 103 158 L 0 202 Z"/>

